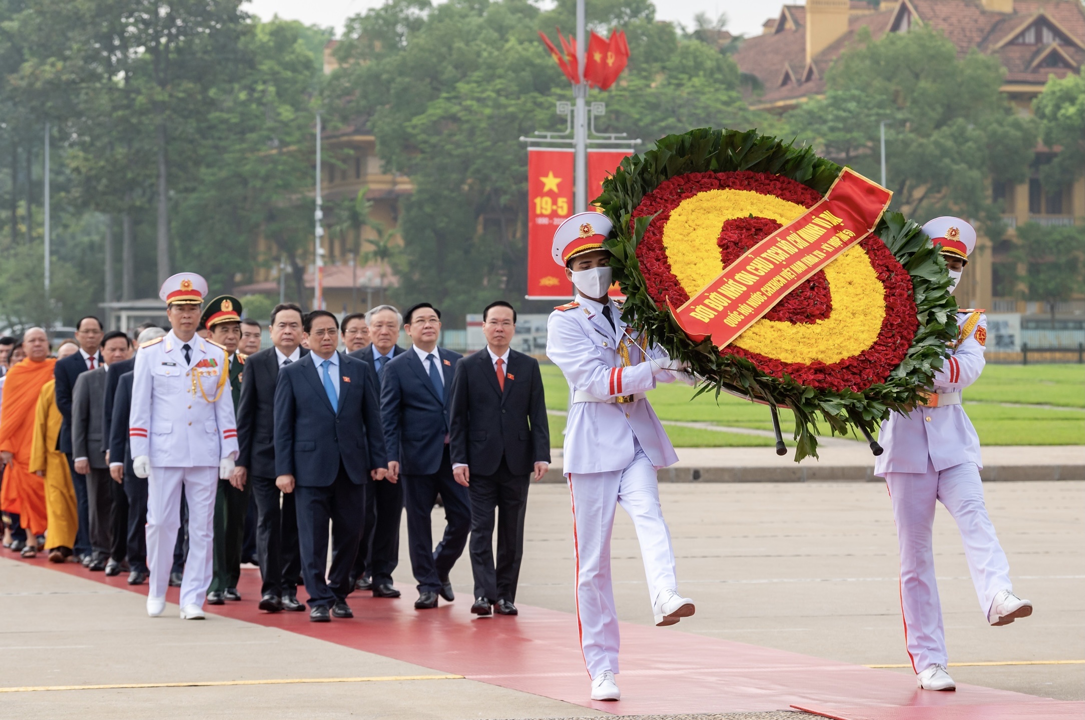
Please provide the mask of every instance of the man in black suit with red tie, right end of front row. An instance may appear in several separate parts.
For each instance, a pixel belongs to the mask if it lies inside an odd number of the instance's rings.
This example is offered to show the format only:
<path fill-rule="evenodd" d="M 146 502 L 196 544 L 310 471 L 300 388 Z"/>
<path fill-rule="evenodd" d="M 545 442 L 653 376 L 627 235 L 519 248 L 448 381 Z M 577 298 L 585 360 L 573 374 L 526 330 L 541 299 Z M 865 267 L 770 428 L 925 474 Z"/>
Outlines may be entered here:
<path fill-rule="evenodd" d="M 486 349 L 460 361 L 452 381 L 452 474 L 471 494 L 471 612 L 516 615 L 516 580 L 524 554 L 524 511 L 531 474 L 550 463 L 550 426 L 542 374 L 535 358 L 509 347 L 516 311 L 505 300 L 483 310 Z M 498 512 L 494 566 L 494 509 Z"/>

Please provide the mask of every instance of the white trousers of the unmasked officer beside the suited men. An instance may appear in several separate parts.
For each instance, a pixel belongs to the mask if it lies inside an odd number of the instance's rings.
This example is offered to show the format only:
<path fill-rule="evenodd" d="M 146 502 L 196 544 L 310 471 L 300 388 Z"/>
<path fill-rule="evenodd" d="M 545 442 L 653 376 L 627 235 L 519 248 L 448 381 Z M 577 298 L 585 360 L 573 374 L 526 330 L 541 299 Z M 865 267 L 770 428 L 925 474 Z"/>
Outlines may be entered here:
<path fill-rule="evenodd" d="M 146 565 L 151 597 L 165 597 L 174 544 L 181 526 L 181 486 L 189 505 L 189 554 L 181 581 L 181 607 L 203 606 L 212 578 L 215 492 L 218 467 L 151 467 L 146 478 Z"/>

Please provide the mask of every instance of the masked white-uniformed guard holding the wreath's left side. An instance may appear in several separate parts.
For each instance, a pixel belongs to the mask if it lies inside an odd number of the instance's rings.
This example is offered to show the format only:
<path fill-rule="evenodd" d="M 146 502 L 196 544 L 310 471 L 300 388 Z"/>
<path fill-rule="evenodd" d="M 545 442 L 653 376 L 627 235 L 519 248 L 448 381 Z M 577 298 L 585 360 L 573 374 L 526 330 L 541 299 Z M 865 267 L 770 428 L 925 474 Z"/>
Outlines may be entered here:
<path fill-rule="evenodd" d="M 599 213 L 566 219 L 553 237 L 553 259 L 576 286 L 576 299 L 547 323 L 547 356 L 570 387 L 564 473 L 573 500 L 576 615 L 591 677 L 591 699 L 621 697 L 618 626 L 611 587 L 610 538 L 618 504 L 640 541 L 655 625 L 693 615 L 678 594 L 671 532 L 660 507 L 655 471 L 675 463 L 666 432 L 644 398 L 658 382 L 687 378 L 659 347 L 647 348 L 622 322 L 608 296 L 610 220 Z"/>

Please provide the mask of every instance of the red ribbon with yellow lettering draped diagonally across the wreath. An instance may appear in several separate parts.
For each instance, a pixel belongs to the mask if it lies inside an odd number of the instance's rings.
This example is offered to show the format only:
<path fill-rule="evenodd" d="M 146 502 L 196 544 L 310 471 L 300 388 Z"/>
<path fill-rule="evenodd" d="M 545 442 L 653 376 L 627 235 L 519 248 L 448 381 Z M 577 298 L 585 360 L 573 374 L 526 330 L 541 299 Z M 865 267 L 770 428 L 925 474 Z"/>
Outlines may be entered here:
<path fill-rule="evenodd" d="M 727 347 L 777 303 L 870 234 L 893 193 L 848 168 L 825 197 L 761 241 L 677 310 L 694 342 Z M 669 305 L 669 300 L 667 301 Z"/>

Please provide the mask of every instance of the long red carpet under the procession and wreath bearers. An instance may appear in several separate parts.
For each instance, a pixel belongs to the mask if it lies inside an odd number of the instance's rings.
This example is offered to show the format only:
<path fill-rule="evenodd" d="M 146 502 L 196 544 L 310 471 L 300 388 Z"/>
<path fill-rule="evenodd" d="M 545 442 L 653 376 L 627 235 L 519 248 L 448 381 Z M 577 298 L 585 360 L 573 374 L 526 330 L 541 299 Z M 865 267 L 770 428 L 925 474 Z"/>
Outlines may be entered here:
<path fill-rule="evenodd" d="M 26 562 L 146 593 L 146 586 L 130 588 L 126 575 L 107 578 L 74 564 L 49 565 L 42 558 Z M 623 672 L 618 680 L 623 699 L 593 703 L 588 699 L 576 618 L 566 613 L 521 605 L 519 617 L 478 619 L 469 612 L 468 596 L 420 612 L 413 608 L 413 589 L 407 588 L 399 600 L 355 593 L 350 597 L 353 620 L 314 623 L 308 613 L 257 610 L 259 573 L 255 569 L 242 571 L 239 590 L 245 599 L 242 602 L 205 609 L 613 713 L 794 707 L 839 720 L 1009 720 L 1085 715 L 1085 703 L 1059 703 L 975 685 L 958 685 L 956 693 L 923 692 L 916 689 L 910 674 L 633 623 L 622 623 Z M 304 597 L 304 589 L 299 590 Z M 176 588 L 170 588 L 168 600 L 177 602 Z M 695 622 L 694 617 L 684 625 L 695 627 Z M 344 674 L 350 674 L 349 668 Z"/>

